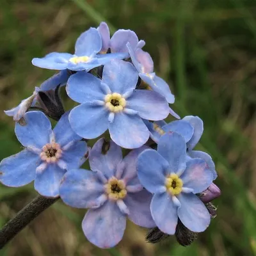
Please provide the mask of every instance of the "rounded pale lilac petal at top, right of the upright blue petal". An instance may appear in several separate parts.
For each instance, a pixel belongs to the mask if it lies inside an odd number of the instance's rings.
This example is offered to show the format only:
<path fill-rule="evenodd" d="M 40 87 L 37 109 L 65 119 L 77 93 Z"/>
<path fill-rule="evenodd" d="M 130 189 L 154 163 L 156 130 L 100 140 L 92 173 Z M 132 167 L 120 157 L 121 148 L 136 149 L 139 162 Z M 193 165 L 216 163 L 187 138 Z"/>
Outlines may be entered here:
<path fill-rule="evenodd" d="M 127 52 L 127 43 L 131 44 L 132 48 L 135 48 L 138 44 L 138 36 L 134 31 L 130 29 L 119 29 L 114 33 L 110 40 L 111 52 Z"/>

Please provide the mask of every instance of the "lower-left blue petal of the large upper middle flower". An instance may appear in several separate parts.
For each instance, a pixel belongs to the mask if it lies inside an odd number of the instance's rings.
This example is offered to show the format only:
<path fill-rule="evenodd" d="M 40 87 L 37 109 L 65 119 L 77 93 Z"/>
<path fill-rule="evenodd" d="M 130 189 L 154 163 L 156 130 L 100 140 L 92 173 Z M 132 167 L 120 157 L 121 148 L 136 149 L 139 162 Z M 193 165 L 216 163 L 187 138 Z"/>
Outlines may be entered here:
<path fill-rule="evenodd" d="M 94 139 L 108 129 L 108 115 L 104 107 L 84 103 L 70 111 L 69 122 L 79 136 Z"/>

